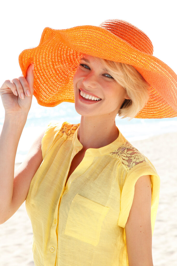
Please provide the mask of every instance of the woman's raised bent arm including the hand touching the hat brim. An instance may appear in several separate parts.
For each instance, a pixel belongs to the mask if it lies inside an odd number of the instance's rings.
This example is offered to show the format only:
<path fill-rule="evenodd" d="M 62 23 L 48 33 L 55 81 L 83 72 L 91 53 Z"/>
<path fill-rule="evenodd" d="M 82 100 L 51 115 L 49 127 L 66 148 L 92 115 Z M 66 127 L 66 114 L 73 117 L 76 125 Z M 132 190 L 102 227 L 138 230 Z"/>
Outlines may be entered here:
<path fill-rule="evenodd" d="M 30 65 L 26 78 L 6 80 L 0 88 L 5 109 L 0 136 L 0 223 L 9 219 L 24 202 L 31 179 L 42 161 L 40 136 L 26 161 L 15 172 L 14 179 L 15 155 L 31 107 L 33 79 L 33 66 Z"/>

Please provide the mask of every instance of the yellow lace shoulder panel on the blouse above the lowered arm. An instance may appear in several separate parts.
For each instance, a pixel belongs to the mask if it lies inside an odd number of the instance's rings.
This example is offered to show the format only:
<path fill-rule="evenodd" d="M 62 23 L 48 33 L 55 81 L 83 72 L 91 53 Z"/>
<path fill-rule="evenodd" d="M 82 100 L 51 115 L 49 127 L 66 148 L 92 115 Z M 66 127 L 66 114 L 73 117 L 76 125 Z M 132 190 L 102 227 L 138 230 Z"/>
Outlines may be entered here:
<path fill-rule="evenodd" d="M 109 155 L 119 159 L 127 170 L 130 170 L 134 165 L 148 162 L 147 158 L 127 140 L 117 150 L 109 153 Z"/>

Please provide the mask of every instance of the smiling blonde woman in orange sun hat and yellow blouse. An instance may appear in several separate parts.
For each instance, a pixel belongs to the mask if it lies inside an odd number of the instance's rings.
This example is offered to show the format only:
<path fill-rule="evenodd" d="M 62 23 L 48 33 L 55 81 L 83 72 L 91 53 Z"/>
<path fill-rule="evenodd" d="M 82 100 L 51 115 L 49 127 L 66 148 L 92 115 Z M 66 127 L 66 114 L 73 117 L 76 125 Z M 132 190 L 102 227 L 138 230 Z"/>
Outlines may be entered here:
<path fill-rule="evenodd" d="M 115 125 L 176 116 L 176 75 L 152 52 L 121 20 L 46 28 L 19 56 L 24 77 L 2 85 L 1 223 L 26 200 L 35 265 L 153 265 L 159 177 Z M 81 123 L 50 123 L 14 178 L 33 88 L 44 106 L 75 101 Z"/>

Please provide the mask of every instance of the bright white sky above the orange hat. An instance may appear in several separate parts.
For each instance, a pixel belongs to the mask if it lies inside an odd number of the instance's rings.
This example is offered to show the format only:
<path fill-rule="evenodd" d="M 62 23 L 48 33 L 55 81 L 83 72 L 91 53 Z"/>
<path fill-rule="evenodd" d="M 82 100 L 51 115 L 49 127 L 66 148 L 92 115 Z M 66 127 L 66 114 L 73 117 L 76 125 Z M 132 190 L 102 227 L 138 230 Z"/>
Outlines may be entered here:
<path fill-rule="evenodd" d="M 99 26 L 107 19 L 126 20 L 144 31 L 154 46 L 154 56 L 176 66 L 176 7 L 168 1 L 3 1 L 1 2 L 0 86 L 21 76 L 18 56 L 39 44 L 45 27 L 66 29 L 79 25 Z M 0 102 L 0 111 L 2 111 Z"/>

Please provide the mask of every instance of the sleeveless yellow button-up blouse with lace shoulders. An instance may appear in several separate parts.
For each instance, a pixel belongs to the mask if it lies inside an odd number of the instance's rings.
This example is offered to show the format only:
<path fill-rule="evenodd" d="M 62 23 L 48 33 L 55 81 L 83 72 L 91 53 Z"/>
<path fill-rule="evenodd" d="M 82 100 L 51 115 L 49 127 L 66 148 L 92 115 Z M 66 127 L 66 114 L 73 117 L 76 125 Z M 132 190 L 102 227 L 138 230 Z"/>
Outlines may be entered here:
<path fill-rule="evenodd" d="M 160 180 L 149 160 L 119 132 L 111 144 L 82 149 L 79 124 L 50 123 L 42 139 L 43 162 L 31 181 L 26 209 L 33 228 L 36 266 L 128 265 L 125 224 L 137 179 L 151 175 L 154 229 Z"/>

